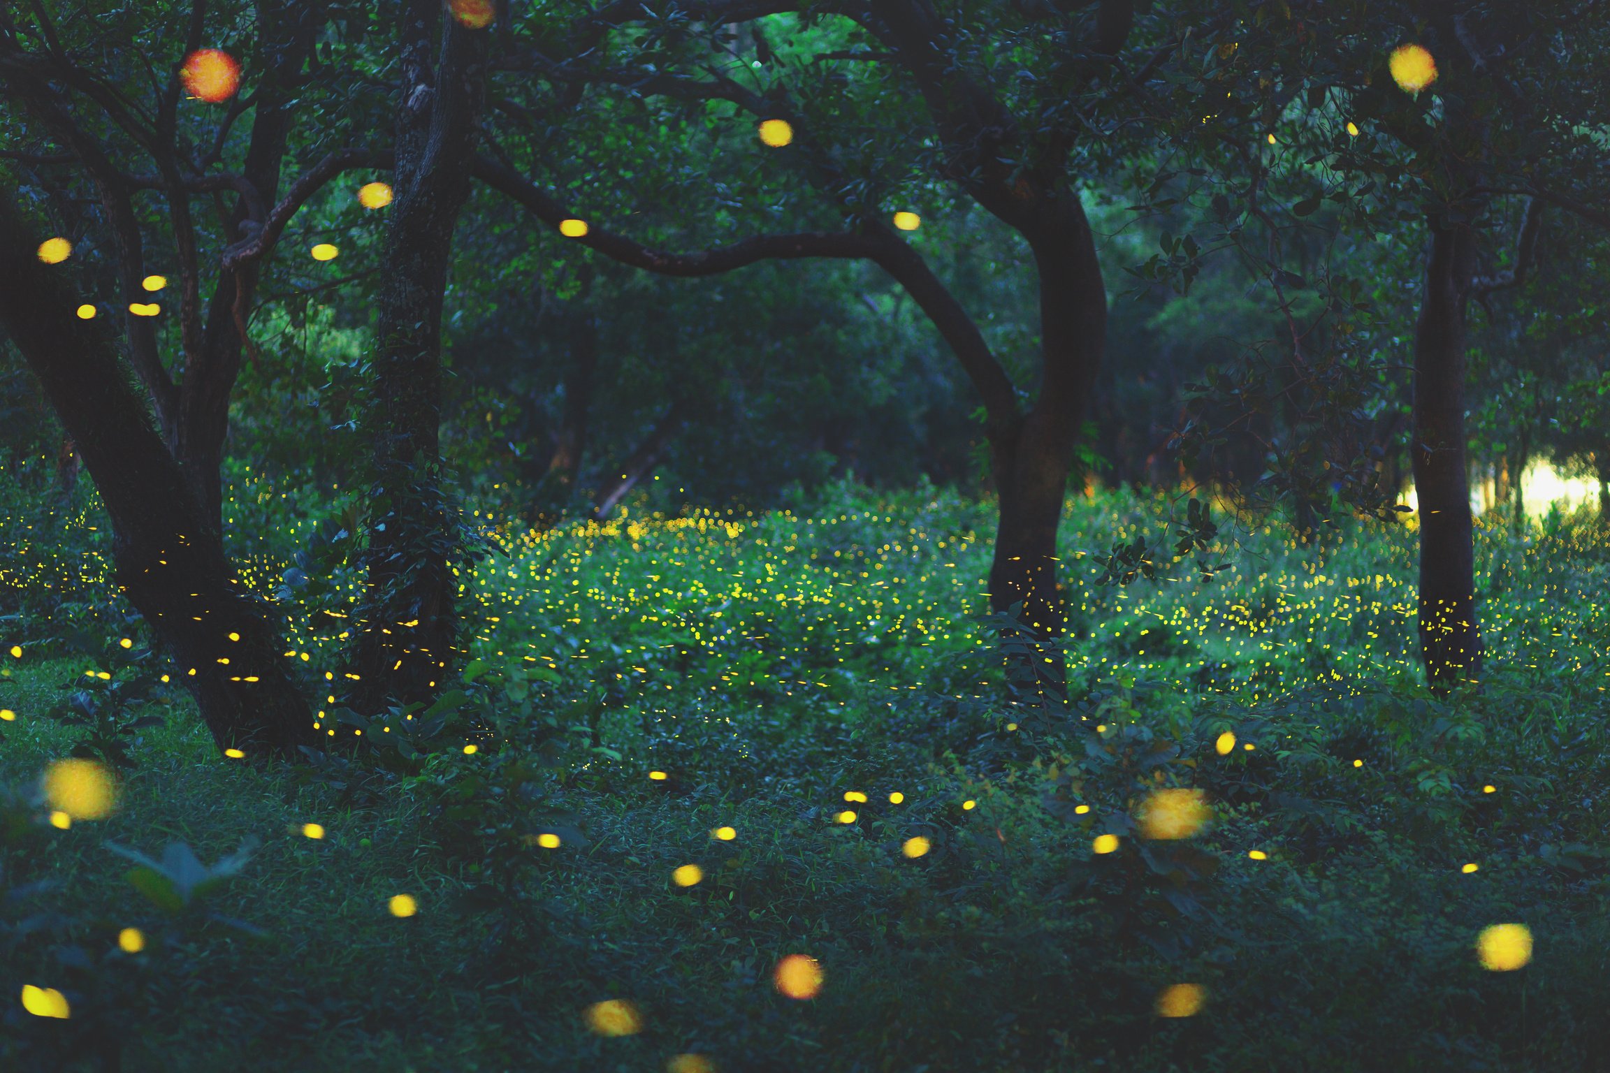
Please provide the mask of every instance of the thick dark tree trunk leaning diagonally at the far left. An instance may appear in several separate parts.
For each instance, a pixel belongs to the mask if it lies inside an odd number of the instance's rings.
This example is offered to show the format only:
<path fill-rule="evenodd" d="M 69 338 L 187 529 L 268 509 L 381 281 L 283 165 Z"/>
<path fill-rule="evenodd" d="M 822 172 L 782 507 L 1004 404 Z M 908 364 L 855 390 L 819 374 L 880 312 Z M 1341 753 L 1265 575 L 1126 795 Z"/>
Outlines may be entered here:
<path fill-rule="evenodd" d="M 34 257 L 39 238 L 0 195 L 0 325 L 39 378 L 111 518 L 118 589 L 179 666 L 222 748 L 291 754 L 312 716 L 291 680 L 282 631 L 235 579 L 103 320 L 72 315 L 68 272 Z"/>

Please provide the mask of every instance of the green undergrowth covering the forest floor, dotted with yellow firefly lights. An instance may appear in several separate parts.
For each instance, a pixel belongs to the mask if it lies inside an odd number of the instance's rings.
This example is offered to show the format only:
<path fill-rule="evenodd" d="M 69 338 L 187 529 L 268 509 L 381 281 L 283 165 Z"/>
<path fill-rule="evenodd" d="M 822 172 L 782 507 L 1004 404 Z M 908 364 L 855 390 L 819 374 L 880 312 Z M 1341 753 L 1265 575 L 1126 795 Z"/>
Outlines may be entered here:
<path fill-rule="evenodd" d="M 31 795 L 84 730 L 45 713 L 119 672 L 118 639 L 93 666 L 0 656 L 0 1068 L 1607 1068 L 1610 571 L 1586 523 L 1483 529 L 1484 680 L 1438 700 L 1412 532 L 1259 526 L 1212 582 L 1098 584 L 1159 510 L 1069 504 L 1066 706 L 1006 700 L 989 507 L 943 494 L 504 531 L 464 573 L 475 663 L 440 727 L 322 709 L 332 737 L 414 745 L 232 761 L 174 700 L 122 735 L 116 811 L 64 830 Z M 309 693 L 341 594 L 291 639 Z M 1143 837 L 1172 787 L 1211 822 Z M 172 912 L 108 849 L 246 840 Z M 1497 923 L 1530 931 L 1525 968 L 1483 967 Z M 815 997 L 774 986 L 791 954 Z M 1161 1017 L 1182 983 L 1199 1010 Z M 23 985 L 71 1017 L 24 1013 Z"/>

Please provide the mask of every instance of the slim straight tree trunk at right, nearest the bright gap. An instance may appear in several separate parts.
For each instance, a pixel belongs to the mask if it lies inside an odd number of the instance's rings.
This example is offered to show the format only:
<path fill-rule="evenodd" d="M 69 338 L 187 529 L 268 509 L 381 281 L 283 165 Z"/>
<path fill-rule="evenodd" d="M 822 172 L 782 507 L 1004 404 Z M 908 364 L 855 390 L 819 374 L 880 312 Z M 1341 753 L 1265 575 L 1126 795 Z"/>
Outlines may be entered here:
<path fill-rule="evenodd" d="M 1415 328 L 1410 455 L 1420 500 L 1420 655 L 1438 693 L 1481 674 L 1465 467 L 1465 304 L 1475 262 L 1472 228 L 1433 219 Z"/>

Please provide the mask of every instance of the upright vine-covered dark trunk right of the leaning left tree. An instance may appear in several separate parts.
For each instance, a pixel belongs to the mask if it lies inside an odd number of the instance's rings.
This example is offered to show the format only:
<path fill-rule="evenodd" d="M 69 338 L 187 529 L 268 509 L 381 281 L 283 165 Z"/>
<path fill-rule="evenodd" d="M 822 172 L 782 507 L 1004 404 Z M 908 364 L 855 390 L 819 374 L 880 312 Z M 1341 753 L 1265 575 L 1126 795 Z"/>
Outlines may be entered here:
<path fill-rule="evenodd" d="M 465 29 L 438 0 L 409 0 L 390 272 L 378 294 L 374 399 L 365 417 L 375 454 L 354 700 L 369 711 L 436 697 L 457 637 L 459 518 L 441 486 L 440 455 L 441 307 L 452 232 L 470 190 L 485 53 L 486 31 Z"/>

